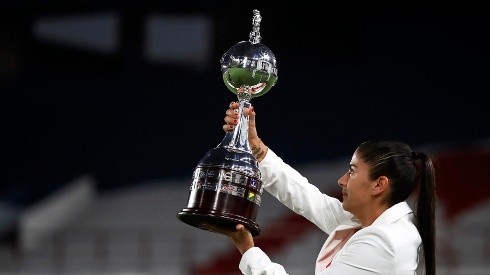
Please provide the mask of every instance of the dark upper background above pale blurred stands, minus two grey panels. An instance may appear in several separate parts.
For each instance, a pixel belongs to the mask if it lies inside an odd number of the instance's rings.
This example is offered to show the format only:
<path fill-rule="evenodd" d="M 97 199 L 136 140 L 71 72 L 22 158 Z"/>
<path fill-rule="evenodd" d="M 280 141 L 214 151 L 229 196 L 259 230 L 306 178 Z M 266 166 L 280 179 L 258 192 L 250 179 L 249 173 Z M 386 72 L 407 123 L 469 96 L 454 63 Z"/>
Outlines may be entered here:
<path fill-rule="evenodd" d="M 219 59 L 248 40 L 253 9 L 278 82 L 252 104 L 260 136 L 287 162 L 350 155 L 374 138 L 465 146 L 490 137 L 486 9 L 471 1 L 315 2 L 1 2 L 1 198 L 27 205 L 84 173 L 101 191 L 190 179 L 224 136 L 236 97 Z M 113 54 L 33 37 L 40 17 L 100 11 L 123 19 Z M 214 62 L 204 70 L 146 62 L 149 12 L 209 15 Z"/>

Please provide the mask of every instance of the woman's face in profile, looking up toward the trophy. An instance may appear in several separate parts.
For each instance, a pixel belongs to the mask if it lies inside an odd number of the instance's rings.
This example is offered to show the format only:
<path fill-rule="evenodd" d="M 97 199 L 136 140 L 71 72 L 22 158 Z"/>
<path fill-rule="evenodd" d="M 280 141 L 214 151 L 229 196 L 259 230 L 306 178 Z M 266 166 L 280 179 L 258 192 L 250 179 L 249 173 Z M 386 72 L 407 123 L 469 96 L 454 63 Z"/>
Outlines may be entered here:
<path fill-rule="evenodd" d="M 349 170 L 342 175 L 338 183 L 342 187 L 342 206 L 344 210 L 358 216 L 362 209 L 371 203 L 371 183 L 369 166 L 354 153 Z"/>

